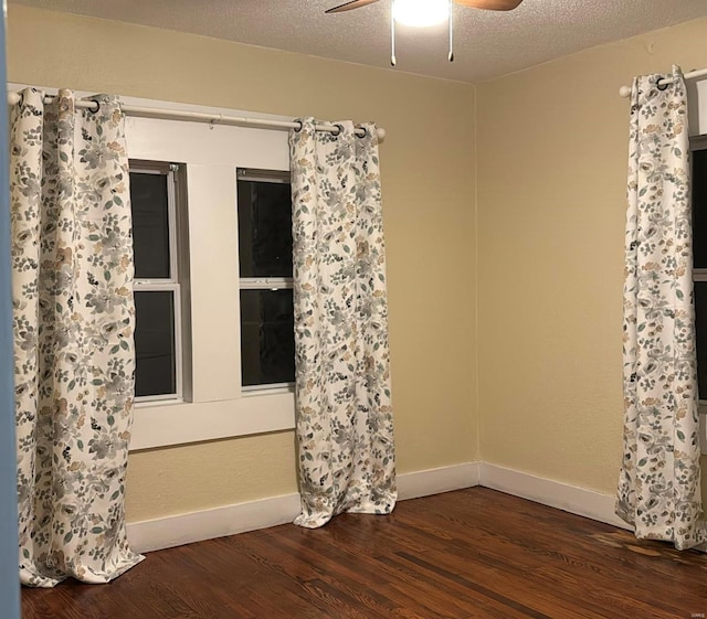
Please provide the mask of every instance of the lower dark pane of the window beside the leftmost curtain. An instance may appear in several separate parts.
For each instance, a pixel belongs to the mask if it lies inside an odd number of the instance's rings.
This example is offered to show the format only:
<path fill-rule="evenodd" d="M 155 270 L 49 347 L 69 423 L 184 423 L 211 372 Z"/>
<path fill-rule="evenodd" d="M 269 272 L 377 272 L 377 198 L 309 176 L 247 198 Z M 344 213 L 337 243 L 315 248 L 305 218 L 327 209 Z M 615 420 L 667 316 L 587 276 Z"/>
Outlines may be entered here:
<path fill-rule="evenodd" d="M 175 302 L 170 290 L 135 292 L 135 395 L 177 393 Z"/>

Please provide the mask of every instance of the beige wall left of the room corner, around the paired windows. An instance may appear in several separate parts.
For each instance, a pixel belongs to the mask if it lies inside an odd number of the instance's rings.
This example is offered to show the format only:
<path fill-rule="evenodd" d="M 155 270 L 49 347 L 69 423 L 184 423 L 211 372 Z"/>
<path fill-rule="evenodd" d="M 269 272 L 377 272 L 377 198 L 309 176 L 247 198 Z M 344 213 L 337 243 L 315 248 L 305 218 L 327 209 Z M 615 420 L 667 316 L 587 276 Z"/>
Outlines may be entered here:
<path fill-rule="evenodd" d="M 398 468 L 476 459 L 473 86 L 13 4 L 8 29 L 10 82 L 384 127 Z M 294 492 L 293 446 L 134 453 L 128 519 Z"/>

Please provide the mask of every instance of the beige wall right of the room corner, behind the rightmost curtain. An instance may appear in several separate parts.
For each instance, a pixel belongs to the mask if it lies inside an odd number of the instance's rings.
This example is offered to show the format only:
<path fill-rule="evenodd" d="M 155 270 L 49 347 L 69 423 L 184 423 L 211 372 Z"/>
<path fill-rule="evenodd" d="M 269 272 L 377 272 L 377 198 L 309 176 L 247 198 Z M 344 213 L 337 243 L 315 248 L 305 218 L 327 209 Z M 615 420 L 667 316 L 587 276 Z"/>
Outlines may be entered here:
<path fill-rule="evenodd" d="M 477 88 L 482 459 L 613 493 L 629 102 L 707 62 L 707 20 Z"/>

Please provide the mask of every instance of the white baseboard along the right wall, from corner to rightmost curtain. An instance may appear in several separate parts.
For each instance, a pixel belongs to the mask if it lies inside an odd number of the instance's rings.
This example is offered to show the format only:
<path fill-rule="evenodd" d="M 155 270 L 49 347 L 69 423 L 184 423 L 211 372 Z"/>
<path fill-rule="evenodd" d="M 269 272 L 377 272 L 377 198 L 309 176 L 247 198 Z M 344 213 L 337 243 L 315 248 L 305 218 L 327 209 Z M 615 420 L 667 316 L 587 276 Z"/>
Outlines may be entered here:
<path fill-rule="evenodd" d="M 488 462 L 481 465 L 481 485 L 613 526 L 632 530 L 614 513 L 615 497 L 610 494 L 601 494 L 593 490 L 506 469 Z"/>

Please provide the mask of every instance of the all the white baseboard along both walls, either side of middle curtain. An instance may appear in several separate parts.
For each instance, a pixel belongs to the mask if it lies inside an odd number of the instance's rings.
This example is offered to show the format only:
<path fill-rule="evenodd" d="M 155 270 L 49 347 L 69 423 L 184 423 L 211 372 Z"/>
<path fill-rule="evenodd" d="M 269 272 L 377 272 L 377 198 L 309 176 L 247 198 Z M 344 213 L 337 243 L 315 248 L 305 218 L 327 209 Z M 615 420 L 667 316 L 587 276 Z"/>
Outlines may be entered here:
<path fill-rule="evenodd" d="M 398 498 L 404 501 L 474 485 L 492 488 L 630 529 L 614 514 L 613 497 L 486 462 L 465 462 L 399 474 Z M 292 522 L 298 513 L 299 494 L 285 494 L 201 512 L 133 522 L 127 525 L 128 540 L 135 552 L 146 553 L 285 524 Z"/>

